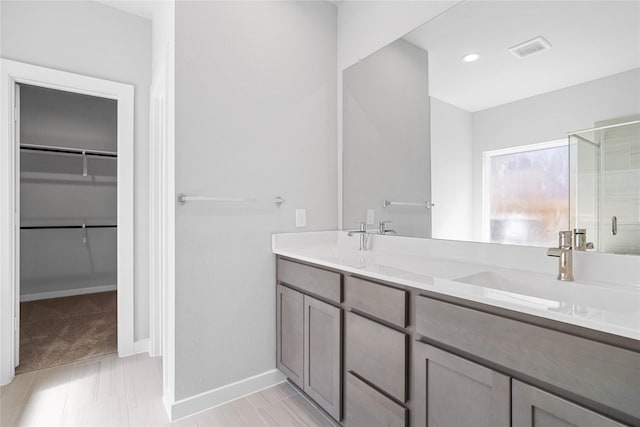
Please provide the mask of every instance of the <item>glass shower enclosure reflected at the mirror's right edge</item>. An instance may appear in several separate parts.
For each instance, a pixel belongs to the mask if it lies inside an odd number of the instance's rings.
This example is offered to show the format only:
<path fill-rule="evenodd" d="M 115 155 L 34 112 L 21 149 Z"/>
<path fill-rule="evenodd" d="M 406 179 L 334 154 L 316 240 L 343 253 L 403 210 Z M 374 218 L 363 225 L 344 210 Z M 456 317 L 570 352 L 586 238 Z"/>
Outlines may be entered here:
<path fill-rule="evenodd" d="M 569 134 L 571 220 L 598 252 L 640 255 L 640 116 Z"/>

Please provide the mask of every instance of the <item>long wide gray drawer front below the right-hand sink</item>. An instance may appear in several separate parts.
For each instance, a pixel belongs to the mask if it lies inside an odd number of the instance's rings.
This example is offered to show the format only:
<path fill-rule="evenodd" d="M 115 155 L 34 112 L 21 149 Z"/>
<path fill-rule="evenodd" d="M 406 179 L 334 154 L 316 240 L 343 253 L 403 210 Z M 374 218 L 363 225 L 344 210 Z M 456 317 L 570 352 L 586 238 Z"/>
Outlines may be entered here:
<path fill-rule="evenodd" d="M 427 297 L 416 331 L 640 419 L 640 353 Z"/>

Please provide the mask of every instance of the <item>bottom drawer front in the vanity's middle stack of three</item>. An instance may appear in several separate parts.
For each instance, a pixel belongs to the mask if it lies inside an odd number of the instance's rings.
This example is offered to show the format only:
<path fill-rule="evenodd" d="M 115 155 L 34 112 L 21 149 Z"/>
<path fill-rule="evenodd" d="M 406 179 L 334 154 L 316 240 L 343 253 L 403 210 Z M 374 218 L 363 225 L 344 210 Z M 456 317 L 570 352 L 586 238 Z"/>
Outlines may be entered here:
<path fill-rule="evenodd" d="M 405 427 L 408 411 L 351 373 L 346 374 L 344 425 Z"/>

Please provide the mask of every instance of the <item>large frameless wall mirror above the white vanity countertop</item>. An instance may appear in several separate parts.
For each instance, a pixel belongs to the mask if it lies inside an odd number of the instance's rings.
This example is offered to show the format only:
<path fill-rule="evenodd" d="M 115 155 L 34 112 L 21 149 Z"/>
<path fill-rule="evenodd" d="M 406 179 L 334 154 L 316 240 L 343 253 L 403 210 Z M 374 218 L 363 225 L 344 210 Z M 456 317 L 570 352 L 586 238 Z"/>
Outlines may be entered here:
<path fill-rule="evenodd" d="M 640 2 L 466 1 L 343 72 L 343 226 L 640 254 Z"/>

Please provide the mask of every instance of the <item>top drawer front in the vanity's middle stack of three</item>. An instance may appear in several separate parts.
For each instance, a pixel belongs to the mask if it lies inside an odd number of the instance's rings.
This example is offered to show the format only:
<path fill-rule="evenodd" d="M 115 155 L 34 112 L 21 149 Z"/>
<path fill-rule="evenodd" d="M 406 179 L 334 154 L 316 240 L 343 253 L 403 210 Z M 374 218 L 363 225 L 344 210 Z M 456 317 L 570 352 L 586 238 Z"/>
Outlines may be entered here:
<path fill-rule="evenodd" d="M 401 328 L 407 327 L 407 291 L 356 277 L 347 277 L 345 285 L 345 299 L 350 306 Z"/>

